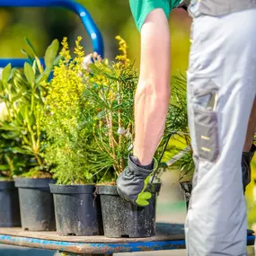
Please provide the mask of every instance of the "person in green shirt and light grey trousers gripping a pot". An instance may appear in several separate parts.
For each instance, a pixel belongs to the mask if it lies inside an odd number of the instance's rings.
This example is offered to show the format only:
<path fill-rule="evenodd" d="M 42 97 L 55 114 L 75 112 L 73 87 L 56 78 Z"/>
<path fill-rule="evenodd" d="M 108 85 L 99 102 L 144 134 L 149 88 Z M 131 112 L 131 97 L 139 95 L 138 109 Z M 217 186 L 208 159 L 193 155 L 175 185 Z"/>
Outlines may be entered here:
<path fill-rule="evenodd" d="M 177 1 L 130 0 L 141 33 L 136 135 L 119 195 L 135 205 L 154 172 L 170 101 L 168 14 Z M 256 0 L 192 0 L 188 116 L 196 171 L 185 224 L 189 256 L 246 255 L 243 190 L 256 128 Z"/>

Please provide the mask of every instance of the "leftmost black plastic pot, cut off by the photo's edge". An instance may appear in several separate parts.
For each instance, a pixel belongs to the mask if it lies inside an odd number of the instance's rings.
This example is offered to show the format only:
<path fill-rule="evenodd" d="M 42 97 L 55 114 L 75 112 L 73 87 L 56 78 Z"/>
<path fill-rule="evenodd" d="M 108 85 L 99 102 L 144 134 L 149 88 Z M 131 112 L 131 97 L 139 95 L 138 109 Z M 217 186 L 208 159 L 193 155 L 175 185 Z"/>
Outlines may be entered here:
<path fill-rule="evenodd" d="M 14 181 L 0 181 L 0 227 L 21 226 L 18 190 Z"/>

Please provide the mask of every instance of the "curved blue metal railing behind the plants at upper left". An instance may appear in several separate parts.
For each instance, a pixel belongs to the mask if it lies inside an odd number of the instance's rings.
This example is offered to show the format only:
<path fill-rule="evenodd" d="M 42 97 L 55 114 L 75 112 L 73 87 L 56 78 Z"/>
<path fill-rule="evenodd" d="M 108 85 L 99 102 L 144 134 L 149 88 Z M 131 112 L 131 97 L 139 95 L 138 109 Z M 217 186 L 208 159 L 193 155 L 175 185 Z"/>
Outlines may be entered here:
<path fill-rule="evenodd" d="M 84 28 L 90 35 L 93 43 L 93 51 L 104 57 L 104 48 L 102 34 L 93 22 L 90 13 L 82 4 L 78 4 L 73 0 L 0 0 L 0 7 L 64 7 L 73 11 L 81 18 Z M 9 63 L 12 66 L 22 67 L 26 58 L 0 58 L 0 67 L 4 67 Z"/>

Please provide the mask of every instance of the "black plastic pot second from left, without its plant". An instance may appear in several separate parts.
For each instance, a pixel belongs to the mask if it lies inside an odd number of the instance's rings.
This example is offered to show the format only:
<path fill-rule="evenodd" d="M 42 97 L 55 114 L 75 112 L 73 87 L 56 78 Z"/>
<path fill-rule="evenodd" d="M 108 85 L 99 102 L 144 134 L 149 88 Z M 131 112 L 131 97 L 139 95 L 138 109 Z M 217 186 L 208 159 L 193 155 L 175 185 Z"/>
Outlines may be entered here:
<path fill-rule="evenodd" d="M 49 191 L 51 179 L 15 179 L 19 190 L 22 229 L 30 231 L 56 230 L 53 197 Z"/>

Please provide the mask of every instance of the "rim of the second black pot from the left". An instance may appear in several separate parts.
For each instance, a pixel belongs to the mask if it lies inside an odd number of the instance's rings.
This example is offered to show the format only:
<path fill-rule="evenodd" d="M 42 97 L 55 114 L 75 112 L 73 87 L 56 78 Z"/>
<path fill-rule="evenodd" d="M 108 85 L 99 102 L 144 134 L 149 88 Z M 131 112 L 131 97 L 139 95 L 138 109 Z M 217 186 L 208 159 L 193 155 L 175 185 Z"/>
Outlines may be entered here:
<path fill-rule="evenodd" d="M 16 178 L 14 182 L 17 188 L 49 188 L 49 184 L 55 183 L 49 178 Z"/>

